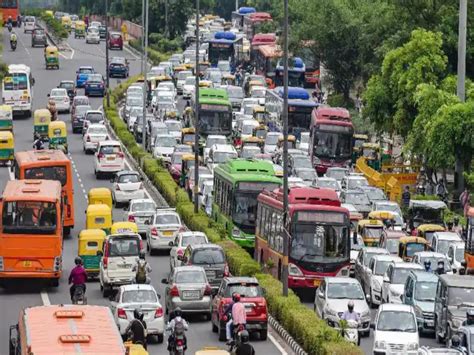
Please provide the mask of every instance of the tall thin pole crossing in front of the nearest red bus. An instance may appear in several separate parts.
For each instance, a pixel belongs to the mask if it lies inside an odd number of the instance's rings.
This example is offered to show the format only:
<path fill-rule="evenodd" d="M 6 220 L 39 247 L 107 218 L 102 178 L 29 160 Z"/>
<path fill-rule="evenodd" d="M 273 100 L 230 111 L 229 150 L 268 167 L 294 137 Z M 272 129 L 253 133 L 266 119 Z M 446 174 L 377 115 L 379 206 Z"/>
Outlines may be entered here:
<path fill-rule="evenodd" d="M 288 297 L 288 0 L 284 0 L 283 23 L 283 296 Z"/>

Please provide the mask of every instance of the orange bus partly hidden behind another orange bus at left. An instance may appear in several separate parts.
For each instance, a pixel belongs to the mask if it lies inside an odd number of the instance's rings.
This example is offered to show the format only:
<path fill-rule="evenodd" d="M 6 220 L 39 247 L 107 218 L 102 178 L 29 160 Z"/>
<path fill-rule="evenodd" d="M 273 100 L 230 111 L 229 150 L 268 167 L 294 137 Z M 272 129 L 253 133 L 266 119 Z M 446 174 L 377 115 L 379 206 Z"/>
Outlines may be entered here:
<path fill-rule="evenodd" d="M 61 150 L 30 150 L 15 153 L 15 178 L 58 180 L 64 201 L 64 235 L 74 228 L 74 187 L 71 161 Z"/>

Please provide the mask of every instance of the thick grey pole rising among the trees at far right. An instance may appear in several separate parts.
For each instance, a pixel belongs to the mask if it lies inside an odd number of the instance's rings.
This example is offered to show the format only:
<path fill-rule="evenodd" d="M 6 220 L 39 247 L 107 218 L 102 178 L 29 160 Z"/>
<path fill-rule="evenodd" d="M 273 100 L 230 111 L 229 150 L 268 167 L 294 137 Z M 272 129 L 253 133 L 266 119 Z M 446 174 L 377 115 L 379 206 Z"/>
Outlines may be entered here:
<path fill-rule="evenodd" d="M 467 0 L 459 0 L 459 33 L 458 33 L 458 85 L 457 96 L 461 102 L 466 101 L 466 31 L 467 31 Z M 456 156 L 454 186 L 460 194 L 464 190 L 464 167 Z"/>

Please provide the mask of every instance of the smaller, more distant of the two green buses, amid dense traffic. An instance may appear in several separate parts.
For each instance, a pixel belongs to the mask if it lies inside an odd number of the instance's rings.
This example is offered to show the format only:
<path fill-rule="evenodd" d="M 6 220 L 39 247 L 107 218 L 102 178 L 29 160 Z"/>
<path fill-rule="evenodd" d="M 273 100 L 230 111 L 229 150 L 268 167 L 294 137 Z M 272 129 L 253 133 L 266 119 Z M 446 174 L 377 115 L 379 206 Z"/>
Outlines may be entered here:
<path fill-rule="evenodd" d="M 232 105 L 224 89 L 199 90 L 199 135 L 232 133 Z"/>

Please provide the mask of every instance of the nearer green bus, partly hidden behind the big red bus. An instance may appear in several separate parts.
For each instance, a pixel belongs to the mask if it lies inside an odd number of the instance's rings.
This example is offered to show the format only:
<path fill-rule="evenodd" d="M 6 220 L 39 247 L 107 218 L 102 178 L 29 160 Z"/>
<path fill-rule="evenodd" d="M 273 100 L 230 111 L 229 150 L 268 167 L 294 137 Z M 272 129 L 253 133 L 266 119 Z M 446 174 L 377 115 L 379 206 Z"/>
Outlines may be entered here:
<path fill-rule="evenodd" d="M 214 168 L 212 218 L 226 226 L 237 244 L 253 248 L 257 220 L 257 196 L 273 191 L 282 180 L 267 161 L 232 159 Z"/>

